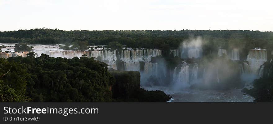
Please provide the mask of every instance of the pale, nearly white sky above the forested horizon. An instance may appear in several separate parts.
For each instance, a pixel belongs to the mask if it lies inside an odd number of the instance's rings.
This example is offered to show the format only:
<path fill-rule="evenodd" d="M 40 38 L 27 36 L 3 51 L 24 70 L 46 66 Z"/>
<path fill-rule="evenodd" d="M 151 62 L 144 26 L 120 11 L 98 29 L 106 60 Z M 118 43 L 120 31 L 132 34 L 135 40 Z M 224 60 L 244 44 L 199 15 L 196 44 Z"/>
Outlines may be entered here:
<path fill-rule="evenodd" d="M 272 0 L 0 0 L 0 31 L 273 31 Z"/>

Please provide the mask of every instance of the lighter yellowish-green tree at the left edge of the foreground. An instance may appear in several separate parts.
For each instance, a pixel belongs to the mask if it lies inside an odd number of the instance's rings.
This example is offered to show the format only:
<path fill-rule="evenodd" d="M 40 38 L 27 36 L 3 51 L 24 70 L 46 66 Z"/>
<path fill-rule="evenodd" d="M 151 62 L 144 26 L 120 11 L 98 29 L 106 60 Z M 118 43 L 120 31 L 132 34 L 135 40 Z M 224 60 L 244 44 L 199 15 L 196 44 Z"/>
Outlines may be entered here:
<path fill-rule="evenodd" d="M 22 57 L 21 57 L 22 58 Z M 29 74 L 26 65 L 8 62 L 0 58 L 0 101 L 26 101 L 25 96 Z"/>

